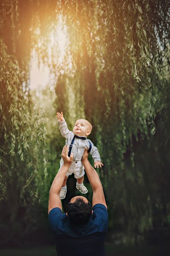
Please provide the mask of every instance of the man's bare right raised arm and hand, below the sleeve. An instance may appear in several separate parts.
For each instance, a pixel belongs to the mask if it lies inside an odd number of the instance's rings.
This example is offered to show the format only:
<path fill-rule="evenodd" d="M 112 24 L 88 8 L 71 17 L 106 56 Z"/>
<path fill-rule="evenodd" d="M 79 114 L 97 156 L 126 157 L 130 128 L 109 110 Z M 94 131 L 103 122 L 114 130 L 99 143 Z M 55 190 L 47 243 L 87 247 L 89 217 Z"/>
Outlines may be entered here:
<path fill-rule="evenodd" d="M 85 167 L 85 172 L 87 173 L 88 180 L 93 190 L 92 206 L 95 204 L 103 204 L 107 208 L 102 183 L 100 182 L 98 173 L 88 161 L 87 149 L 82 156 L 82 164 Z"/>

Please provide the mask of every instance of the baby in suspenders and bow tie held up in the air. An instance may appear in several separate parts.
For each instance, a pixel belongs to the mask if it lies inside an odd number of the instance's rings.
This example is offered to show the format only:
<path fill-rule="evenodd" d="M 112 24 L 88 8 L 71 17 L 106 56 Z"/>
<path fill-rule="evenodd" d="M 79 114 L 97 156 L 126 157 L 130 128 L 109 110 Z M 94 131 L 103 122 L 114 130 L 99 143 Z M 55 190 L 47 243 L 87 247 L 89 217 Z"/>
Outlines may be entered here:
<path fill-rule="evenodd" d="M 69 145 L 69 152 L 68 156 L 70 156 L 71 153 L 73 153 L 73 162 L 71 163 L 71 166 L 68 169 L 68 172 L 66 174 L 65 180 L 62 184 L 61 192 L 60 192 L 60 198 L 64 199 L 65 195 L 67 193 L 67 179 L 68 176 L 74 173 L 74 177 L 77 179 L 76 188 L 82 193 L 86 194 L 88 193 L 88 189 L 84 186 L 83 180 L 84 180 L 84 166 L 82 165 L 82 155 L 86 148 L 89 148 L 89 152 L 92 155 L 94 159 L 94 167 L 99 168 L 103 166 L 103 164 L 100 161 L 100 155 L 98 149 L 93 145 L 91 140 L 87 140 L 86 137 L 91 133 L 92 125 L 90 122 L 88 122 L 85 119 L 79 119 L 75 122 L 73 131 L 69 131 L 67 128 L 67 124 L 65 122 L 63 113 L 57 112 L 56 114 L 58 118 L 58 124 L 59 124 L 59 131 L 61 132 L 61 135 L 65 137 L 66 145 Z M 60 168 L 63 164 L 63 160 L 61 158 L 60 160 Z"/>

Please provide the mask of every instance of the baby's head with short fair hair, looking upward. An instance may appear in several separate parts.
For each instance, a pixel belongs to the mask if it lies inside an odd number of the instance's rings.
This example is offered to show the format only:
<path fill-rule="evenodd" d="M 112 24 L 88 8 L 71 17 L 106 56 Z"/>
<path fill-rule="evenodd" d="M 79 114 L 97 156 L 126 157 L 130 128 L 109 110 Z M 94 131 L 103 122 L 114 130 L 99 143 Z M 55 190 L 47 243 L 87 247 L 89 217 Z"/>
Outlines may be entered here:
<path fill-rule="evenodd" d="M 75 122 L 73 133 L 81 137 L 87 137 L 92 130 L 92 125 L 88 120 L 79 119 Z"/>

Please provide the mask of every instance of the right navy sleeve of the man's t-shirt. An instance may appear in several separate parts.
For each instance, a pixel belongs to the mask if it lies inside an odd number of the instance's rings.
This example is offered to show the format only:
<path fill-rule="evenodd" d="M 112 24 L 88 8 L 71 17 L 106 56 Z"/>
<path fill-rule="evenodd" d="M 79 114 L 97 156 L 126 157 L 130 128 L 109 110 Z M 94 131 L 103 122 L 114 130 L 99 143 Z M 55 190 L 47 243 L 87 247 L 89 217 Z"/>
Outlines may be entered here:
<path fill-rule="evenodd" d="M 99 224 L 101 232 L 108 231 L 108 211 L 103 204 L 95 204 L 93 209 L 93 215 L 95 222 Z"/>

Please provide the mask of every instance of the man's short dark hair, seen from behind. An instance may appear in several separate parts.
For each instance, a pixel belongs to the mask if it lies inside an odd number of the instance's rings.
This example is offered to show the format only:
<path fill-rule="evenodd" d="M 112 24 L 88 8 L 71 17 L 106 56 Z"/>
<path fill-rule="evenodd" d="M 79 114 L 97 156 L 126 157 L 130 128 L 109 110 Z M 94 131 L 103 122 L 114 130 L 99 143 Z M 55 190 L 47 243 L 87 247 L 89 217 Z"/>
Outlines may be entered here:
<path fill-rule="evenodd" d="M 91 218 L 91 203 L 85 203 L 82 198 L 77 198 L 74 203 L 68 204 L 68 219 L 74 224 L 83 225 Z"/>

